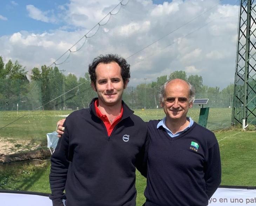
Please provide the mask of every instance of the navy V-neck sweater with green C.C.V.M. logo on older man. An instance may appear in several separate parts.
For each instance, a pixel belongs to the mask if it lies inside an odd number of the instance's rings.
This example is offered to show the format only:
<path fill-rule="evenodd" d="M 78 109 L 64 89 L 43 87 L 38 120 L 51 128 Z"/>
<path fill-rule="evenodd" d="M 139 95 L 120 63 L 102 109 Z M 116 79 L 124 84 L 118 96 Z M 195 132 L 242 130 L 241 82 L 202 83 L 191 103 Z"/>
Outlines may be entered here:
<path fill-rule="evenodd" d="M 146 206 L 206 206 L 221 182 L 218 142 L 213 132 L 194 124 L 171 138 L 159 120 L 148 123 Z M 195 142 L 195 143 L 193 143 Z"/>

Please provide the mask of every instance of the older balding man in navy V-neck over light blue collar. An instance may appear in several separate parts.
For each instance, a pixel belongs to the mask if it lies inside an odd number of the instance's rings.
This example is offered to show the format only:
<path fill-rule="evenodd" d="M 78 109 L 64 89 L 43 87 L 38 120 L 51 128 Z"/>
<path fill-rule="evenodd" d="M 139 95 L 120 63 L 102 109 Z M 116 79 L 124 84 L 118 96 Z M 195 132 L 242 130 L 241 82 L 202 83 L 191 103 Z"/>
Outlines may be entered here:
<path fill-rule="evenodd" d="M 221 182 L 218 142 L 213 132 L 187 117 L 195 90 L 174 79 L 164 84 L 166 117 L 148 123 L 146 206 L 206 206 Z"/>

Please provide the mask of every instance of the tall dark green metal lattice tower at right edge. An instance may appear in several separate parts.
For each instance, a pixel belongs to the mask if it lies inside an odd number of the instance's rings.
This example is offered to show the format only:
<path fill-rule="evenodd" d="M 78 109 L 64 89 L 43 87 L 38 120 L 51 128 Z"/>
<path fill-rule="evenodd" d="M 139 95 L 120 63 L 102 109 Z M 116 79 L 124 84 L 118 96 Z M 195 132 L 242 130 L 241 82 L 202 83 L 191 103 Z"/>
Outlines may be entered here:
<path fill-rule="evenodd" d="M 256 125 L 256 0 L 241 0 L 232 123 Z"/>

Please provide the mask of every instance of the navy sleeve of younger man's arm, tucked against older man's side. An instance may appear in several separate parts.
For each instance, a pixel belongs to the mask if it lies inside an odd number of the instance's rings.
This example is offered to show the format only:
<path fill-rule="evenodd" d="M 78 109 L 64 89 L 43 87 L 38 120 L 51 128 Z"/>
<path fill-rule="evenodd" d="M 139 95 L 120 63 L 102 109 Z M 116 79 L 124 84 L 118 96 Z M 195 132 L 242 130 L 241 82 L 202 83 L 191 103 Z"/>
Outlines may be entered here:
<path fill-rule="evenodd" d="M 136 156 L 135 167 L 141 175 L 147 177 L 147 161 L 148 161 L 148 145 L 149 145 L 149 133 L 147 130 L 146 140 L 142 148 L 140 149 L 139 154 Z"/>

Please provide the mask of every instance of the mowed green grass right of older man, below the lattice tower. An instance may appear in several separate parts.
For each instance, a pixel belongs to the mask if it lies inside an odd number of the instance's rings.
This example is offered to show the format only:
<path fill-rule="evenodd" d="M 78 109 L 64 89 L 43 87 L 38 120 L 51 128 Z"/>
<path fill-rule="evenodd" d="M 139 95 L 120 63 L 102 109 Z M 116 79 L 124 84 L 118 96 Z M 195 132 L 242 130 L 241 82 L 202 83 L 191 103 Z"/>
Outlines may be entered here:
<path fill-rule="evenodd" d="M 215 134 L 221 153 L 221 184 L 256 186 L 256 132 L 233 130 Z"/>

